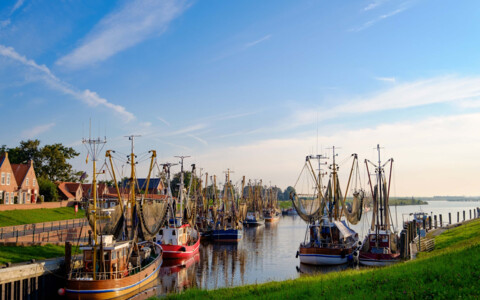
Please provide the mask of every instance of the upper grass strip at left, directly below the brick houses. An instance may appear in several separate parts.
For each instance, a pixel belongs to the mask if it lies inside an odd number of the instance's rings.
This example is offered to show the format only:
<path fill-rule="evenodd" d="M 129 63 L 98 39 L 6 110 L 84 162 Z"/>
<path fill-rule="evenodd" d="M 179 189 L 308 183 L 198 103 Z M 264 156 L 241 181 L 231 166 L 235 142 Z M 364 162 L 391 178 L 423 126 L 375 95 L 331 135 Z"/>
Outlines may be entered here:
<path fill-rule="evenodd" d="M 0 227 L 71 220 L 84 216 L 85 213 L 81 209 L 75 215 L 75 208 L 73 207 L 7 210 L 0 211 Z"/>

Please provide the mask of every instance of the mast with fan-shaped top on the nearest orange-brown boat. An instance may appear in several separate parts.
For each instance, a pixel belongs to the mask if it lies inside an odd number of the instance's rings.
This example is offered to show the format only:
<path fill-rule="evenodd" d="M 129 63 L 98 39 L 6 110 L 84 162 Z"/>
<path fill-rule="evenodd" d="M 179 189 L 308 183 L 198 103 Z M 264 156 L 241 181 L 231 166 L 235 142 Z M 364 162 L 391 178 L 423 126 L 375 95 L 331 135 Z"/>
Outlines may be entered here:
<path fill-rule="evenodd" d="M 97 263 L 97 159 L 98 154 L 102 151 L 107 143 L 107 139 L 92 139 L 91 135 L 88 140 L 83 139 L 82 143 L 87 148 L 88 154 L 92 156 L 93 162 L 93 178 L 92 178 L 92 194 L 93 194 L 93 280 L 96 280 L 96 263 Z M 88 146 L 87 146 L 88 145 Z M 88 156 L 87 156 L 88 157 Z M 88 204 L 87 204 L 88 205 Z M 102 254 L 103 255 L 103 254 Z"/>

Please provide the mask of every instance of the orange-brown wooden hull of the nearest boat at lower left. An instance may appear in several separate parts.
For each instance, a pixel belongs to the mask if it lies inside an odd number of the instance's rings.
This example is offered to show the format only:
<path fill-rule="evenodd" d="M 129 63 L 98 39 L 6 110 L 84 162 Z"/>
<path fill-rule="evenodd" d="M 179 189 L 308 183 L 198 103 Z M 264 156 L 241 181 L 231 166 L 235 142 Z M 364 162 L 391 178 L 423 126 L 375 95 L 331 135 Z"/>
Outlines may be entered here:
<path fill-rule="evenodd" d="M 155 245 L 160 248 L 159 245 Z M 138 293 L 143 287 L 158 277 L 162 265 L 162 254 L 142 271 L 119 279 L 108 280 L 67 280 L 65 292 L 68 299 L 112 299 L 128 297 Z"/>

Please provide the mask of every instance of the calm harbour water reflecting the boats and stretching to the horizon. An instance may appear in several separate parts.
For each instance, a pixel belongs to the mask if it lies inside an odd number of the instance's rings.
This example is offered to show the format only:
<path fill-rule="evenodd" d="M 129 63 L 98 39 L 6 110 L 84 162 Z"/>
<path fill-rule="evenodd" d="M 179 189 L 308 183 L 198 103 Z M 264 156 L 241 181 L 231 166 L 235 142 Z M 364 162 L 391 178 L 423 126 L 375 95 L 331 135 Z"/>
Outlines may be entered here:
<path fill-rule="evenodd" d="M 448 222 L 450 212 L 452 223 L 456 223 L 457 211 L 460 212 L 462 221 L 463 211 L 466 211 L 466 219 L 470 219 L 469 210 L 476 207 L 480 207 L 480 202 L 430 201 L 429 205 L 398 206 L 397 222 L 401 227 L 402 220 L 411 218 L 410 213 L 423 211 L 433 215 L 443 214 L 444 223 Z M 395 220 L 395 207 L 391 207 L 391 214 Z M 371 212 L 368 212 L 353 228 L 363 237 L 368 231 L 370 221 Z M 397 222 L 393 225 L 396 226 Z M 200 254 L 186 261 L 183 266 L 177 262 L 164 263 L 155 293 L 161 296 L 191 287 L 216 289 L 272 280 L 281 281 L 297 278 L 304 273 L 330 272 L 346 268 L 346 266 L 315 268 L 301 265 L 295 258 L 295 253 L 300 242 L 304 240 L 305 232 L 306 224 L 298 216 L 282 216 L 275 224 L 245 228 L 243 240 L 238 244 L 202 243 Z"/>

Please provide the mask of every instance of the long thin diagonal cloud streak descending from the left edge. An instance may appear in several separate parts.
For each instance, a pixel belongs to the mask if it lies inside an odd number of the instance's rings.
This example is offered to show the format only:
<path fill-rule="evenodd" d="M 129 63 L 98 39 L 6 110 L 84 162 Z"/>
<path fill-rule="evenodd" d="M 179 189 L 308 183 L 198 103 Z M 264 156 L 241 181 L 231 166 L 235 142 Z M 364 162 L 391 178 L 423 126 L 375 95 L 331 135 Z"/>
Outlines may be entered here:
<path fill-rule="evenodd" d="M 39 65 L 31 59 L 27 59 L 25 56 L 20 55 L 12 47 L 5 47 L 0 45 L 0 55 L 8 57 L 14 61 L 17 61 L 27 67 L 30 67 L 34 70 L 40 71 L 43 75 L 42 79 L 53 89 L 63 92 L 64 94 L 71 95 L 74 98 L 90 105 L 90 106 L 104 106 L 113 110 L 118 115 L 125 118 L 126 121 L 131 121 L 135 119 L 135 116 L 128 112 L 125 107 L 113 104 L 108 100 L 100 97 L 96 92 L 90 91 L 88 89 L 79 91 L 66 82 L 61 81 L 57 78 L 50 69 L 45 65 Z"/>

